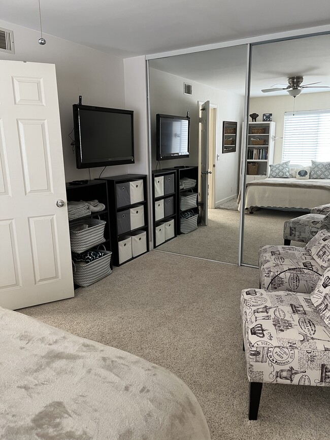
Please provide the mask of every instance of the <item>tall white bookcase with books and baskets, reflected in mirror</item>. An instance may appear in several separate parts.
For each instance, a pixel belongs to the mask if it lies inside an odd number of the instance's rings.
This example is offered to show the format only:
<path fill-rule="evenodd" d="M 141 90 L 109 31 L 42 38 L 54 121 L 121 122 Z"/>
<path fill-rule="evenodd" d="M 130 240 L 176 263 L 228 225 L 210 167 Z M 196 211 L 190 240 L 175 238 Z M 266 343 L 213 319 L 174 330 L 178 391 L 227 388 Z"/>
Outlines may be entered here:
<path fill-rule="evenodd" d="M 274 136 L 275 122 L 249 122 L 247 164 L 257 164 L 258 168 L 257 174 L 249 174 L 247 167 L 246 182 L 268 177 L 274 158 Z"/>

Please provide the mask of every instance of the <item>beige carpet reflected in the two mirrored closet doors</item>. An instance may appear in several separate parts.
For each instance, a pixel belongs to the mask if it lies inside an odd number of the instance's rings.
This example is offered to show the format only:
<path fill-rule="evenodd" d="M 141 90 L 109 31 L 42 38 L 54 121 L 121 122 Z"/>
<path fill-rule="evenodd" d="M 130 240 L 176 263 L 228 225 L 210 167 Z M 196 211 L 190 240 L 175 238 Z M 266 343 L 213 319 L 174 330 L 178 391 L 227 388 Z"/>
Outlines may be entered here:
<path fill-rule="evenodd" d="M 262 209 L 254 214 L 245 214 L 244 263 L 257 265 L 258 250 L 266 244 L 283 244 L 285 220 L 301 213 Z M 240 213 L 221 209 L 209 210 L 207 226 L 201 226 L 189 234 L 157 249 L 175 254 L 191 255 L 228 263 L 238 263 Z M 298 243 L 294 243 L 299 246 Z"/>

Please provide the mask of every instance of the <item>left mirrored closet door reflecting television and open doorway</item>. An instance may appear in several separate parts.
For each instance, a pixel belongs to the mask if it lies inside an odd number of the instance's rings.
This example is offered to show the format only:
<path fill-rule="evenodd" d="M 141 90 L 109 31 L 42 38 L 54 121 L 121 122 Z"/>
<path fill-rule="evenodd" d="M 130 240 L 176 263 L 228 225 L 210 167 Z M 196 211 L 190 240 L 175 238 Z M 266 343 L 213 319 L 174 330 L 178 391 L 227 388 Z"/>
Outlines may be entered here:
<path fill-rule="evenodd" d="M 159 226 L 155 231 L 158 250 L 238 263 L 240 213 L 237 197 L 246 58 L 247 46 L 242 45 L 149 60 L 150 160 L 152 170 L 157 170 L 153 175 L 157 182 L 153 184 L 157 193 L 157 196 L 154 194 L 154 202 L 157 202 L 154 226 Z M 158 116 L 158 121 L 167 121 L 168 116 L 189 117 L 188 155 L 183 145 L 186 138 L 182 123 L 176 120 L 177 123 L 157 124 L 157 115 L 165 116 Z M 224 121 L 227 123 L 225 131 Z M 207 147 L 204 147 L 205 140 Z M 208 163 L 204 163 L 205 160 Z M 177 206 L 173 211 L 175 231 L 166 236 L 161 231 L 161 224 L 166 225 L 172 217 L 160 212 L 158 205 L 166 204 L 170 197 L 159 193 L 158 180 L 162 174 L 165 179 L 171 176 L 169 169 L 177 178 L 174 195 Z M 159 170 L 164 172 L 159 173 Z M 203 191 L 205 187 L 208 191 Z M 205 192 L 208 192 L 207 213 L 202 194 Z M 199 222 L 195 222 L 196 217 Z M 204 221 L 200 223 L 202 218 Z"/>

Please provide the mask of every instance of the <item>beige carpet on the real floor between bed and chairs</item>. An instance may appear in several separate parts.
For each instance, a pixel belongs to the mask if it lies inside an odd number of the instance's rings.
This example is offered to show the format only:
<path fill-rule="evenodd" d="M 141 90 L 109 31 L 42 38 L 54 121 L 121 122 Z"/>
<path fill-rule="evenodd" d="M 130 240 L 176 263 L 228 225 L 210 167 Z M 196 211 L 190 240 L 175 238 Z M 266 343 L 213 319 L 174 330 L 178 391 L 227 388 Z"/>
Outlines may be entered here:
<path fill-rule="evenodd" d="M 239 302 L 257 285 L 254 268 L 152 251 L 75 298 L 21 312 L 169 368 L 196 395 L 213 440 L 328 439 L 326 388 L 264 385 L 259 418 L 247 420 Z"/>

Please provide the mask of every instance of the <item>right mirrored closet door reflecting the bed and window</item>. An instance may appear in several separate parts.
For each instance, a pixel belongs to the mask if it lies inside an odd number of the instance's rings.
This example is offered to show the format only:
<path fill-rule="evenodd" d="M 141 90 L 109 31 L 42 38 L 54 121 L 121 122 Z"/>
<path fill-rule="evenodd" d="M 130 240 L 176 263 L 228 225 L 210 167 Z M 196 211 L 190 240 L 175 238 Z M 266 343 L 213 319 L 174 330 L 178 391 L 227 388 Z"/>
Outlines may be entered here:
<path fill-rule="evenodd" d="M 319 126 L 330 118 L 330 35 L 255 45 L 251 57 L 243 263 L 257 265 L 260 246 L 283 244 L 286 220 L 330 202 L 313 179 L 299 187 L 311 160 L 330 160 Z"/>

